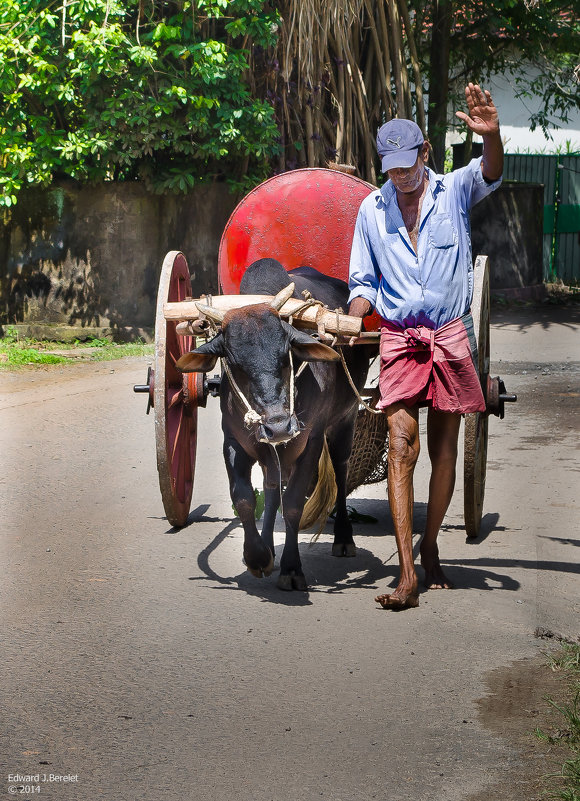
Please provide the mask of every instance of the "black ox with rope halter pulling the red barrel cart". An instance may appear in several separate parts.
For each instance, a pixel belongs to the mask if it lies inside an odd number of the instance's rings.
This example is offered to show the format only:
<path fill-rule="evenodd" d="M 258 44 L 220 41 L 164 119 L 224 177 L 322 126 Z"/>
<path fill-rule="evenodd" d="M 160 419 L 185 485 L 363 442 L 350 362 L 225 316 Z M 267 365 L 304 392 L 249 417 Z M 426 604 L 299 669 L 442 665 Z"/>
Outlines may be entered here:
<path fill-rule="evenodd" d="M 329 309 L 347 308 L 348 288 L 343 281 L 310 267 L 287 273 L 274 259 L 260 259 L 246 270 L 240 294 L 276 295 L 291 281 L 295 284 L 294 297 L 302 297 L 308 290 Z M 360 390 L 369 367 L 367 348 L 347 347 L 344 355 Z M 269 304 L 226 312 L 221 332 L 182 356 L 177 366 L 184 372 L 208 372 L 218 358 L 224 359 L 225 370 L 220 386 L 223 453 L 232 502 L 244 527 L 244 562 L 254 576 L 270 575 L 274 567 L 274 523 L 281 507 L 286 540 L 278 586 L 307 590 L 298 531 L 315 519 L 326 520 L 329 505 L 332 508 L 334 495 L 330 504 L 324 497 L 328 495 L 324 487 L 329 477 L 334 489 L 329 462 L 336 480 L 332 553 L 354 556 L 356 552 L 346 508 L 346 478 L 358 398 L 339 354 L 289 325 Z M 303 362 L 308 364 L 299 372 Z M 261 536 L 256 528 L 251 481 L 256 462 L 264 473 Z M 307 495 L 309 506 L 314 508 L 305 520 Z"/>

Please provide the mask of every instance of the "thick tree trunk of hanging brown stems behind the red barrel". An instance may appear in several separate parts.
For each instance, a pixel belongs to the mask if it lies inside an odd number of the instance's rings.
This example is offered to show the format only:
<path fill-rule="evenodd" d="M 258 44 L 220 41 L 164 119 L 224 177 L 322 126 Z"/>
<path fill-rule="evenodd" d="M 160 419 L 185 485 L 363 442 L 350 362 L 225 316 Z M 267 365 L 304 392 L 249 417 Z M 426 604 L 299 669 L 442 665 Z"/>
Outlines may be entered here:
<path fill-rule="evenodd" d="M 281 34 L 263 85 L 265 97 L 276 98 L 285 169 L 347 163 L 375 183 L 378 127 L 394 114 L 413 116 L 414 106 L 423 127 L 420 66 L 405 2 L 277 3 Z"/>

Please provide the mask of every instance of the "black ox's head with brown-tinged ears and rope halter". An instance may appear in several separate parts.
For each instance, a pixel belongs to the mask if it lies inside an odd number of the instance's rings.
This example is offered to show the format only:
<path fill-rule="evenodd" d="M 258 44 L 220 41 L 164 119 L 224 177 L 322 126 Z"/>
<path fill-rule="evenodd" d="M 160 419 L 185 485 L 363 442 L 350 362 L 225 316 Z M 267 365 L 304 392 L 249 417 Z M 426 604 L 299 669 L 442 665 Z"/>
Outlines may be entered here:
<path fill-rule="evenodd" d="M 222 330 L 209 342 L 182 356 L 183 372 L 208 372 L 218 358 L 226 360 L 241 392 L 260 416 L 256 436 L 272 444 L 299 433 L 290 409 L 290 358 L 334 362 L 340 356 L 282 320 L 271 304 L 259 303 L 224 314 Z"/>

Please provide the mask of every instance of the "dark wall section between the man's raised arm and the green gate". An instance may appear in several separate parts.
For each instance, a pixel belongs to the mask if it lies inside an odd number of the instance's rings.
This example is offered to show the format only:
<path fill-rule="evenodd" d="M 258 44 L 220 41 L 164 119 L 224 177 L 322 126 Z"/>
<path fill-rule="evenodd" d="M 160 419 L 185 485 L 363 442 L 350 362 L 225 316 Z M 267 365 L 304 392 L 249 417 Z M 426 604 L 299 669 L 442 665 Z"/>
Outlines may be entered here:
<path fill-rule="evenodd" d="M 474 256 L 489 256 L 491 289 L 542 283 L 544 188 L 504 181 L 471 212 Z"/>

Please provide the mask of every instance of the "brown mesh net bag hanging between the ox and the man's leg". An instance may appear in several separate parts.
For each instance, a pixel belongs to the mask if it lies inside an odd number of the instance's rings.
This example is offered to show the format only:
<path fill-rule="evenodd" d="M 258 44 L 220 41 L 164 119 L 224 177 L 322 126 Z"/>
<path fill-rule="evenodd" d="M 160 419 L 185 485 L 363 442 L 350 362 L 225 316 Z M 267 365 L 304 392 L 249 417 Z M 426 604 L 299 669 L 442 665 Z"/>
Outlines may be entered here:
<path fill-rule="evenodd" d="M 369 405 L 376 406 L 378 398 L 379 390 L 373 390 Z M 360 406 L 348 461 L 347 495 L 363 484 L 377 484 L 386 479 L 388 445 L 387 415 L 373 414 Z"/>

